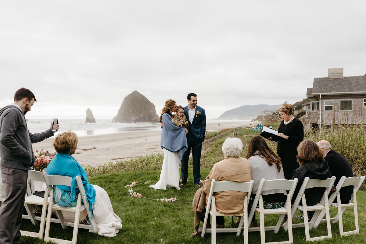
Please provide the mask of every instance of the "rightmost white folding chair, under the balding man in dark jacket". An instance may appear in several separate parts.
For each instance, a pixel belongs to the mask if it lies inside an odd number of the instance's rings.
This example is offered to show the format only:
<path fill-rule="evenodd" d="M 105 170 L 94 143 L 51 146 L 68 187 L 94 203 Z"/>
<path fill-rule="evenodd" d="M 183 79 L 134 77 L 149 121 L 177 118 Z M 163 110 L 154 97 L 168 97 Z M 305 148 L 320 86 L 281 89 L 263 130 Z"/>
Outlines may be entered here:
<path fill-rule="evenodd" d="M 332 195 L 330 195 L 330 197 L 329 197 L 328 201 L 331 203 L 332 206 L 337 207 L 337 209 L 338 209 L 338 213 L 337 213 L 336 217 L 330 218 L 330 221 L 332 221 L 332 223 L 336 223 L 337 221 L 339 221 L 339 234 L 341 236 L 348 236 L 351 234 L 359 233 L 356 192 L 361 187 L 361 184 L 364 180 L 365 180 L 365 176 L 348 177 L 348 178 L 346 178 L 346 176 L 342 176 L 342 178 L 339 180 L 339 182 L 336 186 L 336 191 L 333 192 Z M 346 186 L 353 186 L 353 193 L 351 195 L 351 201 L 349 203 L 342 204 L 339 191 L 342 187 L 346 187 Z M 335 198 L 337 198 L 337 203 L 333 203 Z M 352 203 L 352 201 L 353 201 L 353 203 Z M 354 208 L 355 230 L 350 230 L 350 231 L 344 232 L 342 215 L 343 215 L 344 211 L 347 209 L 347 207 Z M 326 221 L 326 220 L 323 220 L 324 214 L 325 214 L 324 211 L 322 211 L 319 214 L 319 217 L 315 221 L 314 227 L 317 227 L 320 223 L 323 223 Z"/>

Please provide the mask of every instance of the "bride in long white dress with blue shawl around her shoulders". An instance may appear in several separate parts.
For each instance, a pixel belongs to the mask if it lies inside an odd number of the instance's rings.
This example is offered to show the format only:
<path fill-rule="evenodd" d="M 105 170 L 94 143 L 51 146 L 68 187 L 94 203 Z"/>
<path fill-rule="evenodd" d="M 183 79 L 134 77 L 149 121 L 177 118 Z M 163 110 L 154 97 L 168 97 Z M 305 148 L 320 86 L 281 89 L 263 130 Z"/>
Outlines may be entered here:
<path fill-rule="evenodd" d="M 150 185 L 154 189 L 164 189 L 179 187 L 179 159 L 182 159 L 184 152 L 187 150 L 186 129 L 184 127 L 175 126 L 173 123 L 172 113 L 177 111 L 177 104 L 174 100 L 169 99 L 165 102 L 165 107 L 161 110 L 159 122 L 163 123 L 161 131 L 160 145 L 164 150 L 163 166 L 159 181 Z"/>

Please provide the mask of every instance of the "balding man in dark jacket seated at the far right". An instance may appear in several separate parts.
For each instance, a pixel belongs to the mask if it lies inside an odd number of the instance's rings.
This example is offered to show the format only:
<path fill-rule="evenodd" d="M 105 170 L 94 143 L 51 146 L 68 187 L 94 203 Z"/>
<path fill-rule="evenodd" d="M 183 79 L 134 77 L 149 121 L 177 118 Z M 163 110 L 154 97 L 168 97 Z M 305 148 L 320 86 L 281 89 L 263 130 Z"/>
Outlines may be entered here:
<path fill-rule="evenodd" d="M 337 186 L 342 176 L 352 177 L 353 171 L 350 162 L 343 155 L 332 150 L 332 145 L 328 141 L 318 141 L 317 145 L 323 153 L 324 159 L 328 162 L 330 175 L 336 176 L 334 186 Z M 342 187 L 339 191 L 341 203 L 349 203 L 353 192 L 352 186 Z M 337 202 L 337 198 L 334 199 Z"/>

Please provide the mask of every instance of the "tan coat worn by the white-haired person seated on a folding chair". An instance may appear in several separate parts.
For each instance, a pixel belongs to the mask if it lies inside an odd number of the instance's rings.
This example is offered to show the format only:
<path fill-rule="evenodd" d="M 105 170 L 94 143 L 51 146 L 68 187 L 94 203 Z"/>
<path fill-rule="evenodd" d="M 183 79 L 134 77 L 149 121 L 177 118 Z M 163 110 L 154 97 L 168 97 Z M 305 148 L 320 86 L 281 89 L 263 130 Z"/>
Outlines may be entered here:
<path fill-rule="evenodd" d="M 203 191 L 206 193 L 206 206 L 208 195 L 210 193 L 211 181 L 250 181 L 250 163 L 242 157 L 227 157 L 217 162 L 203 184 Z M 240 191 L 222 191 L 214 193 L 216 209 L 227 216 L 235 216 L 243 213 L 244 198 L 246 192 Z"/>

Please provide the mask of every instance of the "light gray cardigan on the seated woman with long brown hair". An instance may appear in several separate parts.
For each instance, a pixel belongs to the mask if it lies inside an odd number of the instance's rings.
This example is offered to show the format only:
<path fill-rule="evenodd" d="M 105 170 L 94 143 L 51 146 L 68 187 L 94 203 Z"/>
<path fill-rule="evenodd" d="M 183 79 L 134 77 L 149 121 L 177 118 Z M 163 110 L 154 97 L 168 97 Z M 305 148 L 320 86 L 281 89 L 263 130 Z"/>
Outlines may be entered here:
<path fill-rule="evenodd" d="M 259 153 L 259 151 L 257 152 Z M 251 179 L 254 181 L 252 194 L 257 193 L 259 182 L 261 181 L 262 178 L 264 178 L 265 180 L 285 179 L 282 167 L 280 172 L 278 172 L 276 165 L 269 166 L 267 161 L 264 158 L 260 157 L 259 155 L 251 156 L 248 160 L 251 168 Z M 287 192 L 285 190 L 277 189 L 277 190 L 262 191 L 262 195 L 269 195 L 275 193 L 283 193 L 287 195 Z"/>

